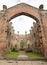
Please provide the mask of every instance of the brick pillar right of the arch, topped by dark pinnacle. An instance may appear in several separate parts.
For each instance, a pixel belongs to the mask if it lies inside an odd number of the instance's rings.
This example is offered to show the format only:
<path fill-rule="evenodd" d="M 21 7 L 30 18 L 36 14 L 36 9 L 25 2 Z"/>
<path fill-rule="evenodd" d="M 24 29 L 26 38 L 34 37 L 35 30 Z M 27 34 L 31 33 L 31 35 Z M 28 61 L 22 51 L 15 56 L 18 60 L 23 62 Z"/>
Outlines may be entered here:
<path fill-rule="evenodd" d="M 46 11 L 45 11 L 46 12 Z M 45 23 L 47 21 L 47 18 L 44 17 L 44 13 L 43 11 L 43 5 L 39 7 L 39 13 L 40 13 L 40 26 L 41 26 L 41 34 L 42 34 L 42 38 L 40 38 L 42 40 L 42 54 L 44 55 L 45 58 L 47 58 L 47 41 L 46 41 L 46 36 L 45 36 Z M 47 34 L 46 34 L 47 35 Z"/>

